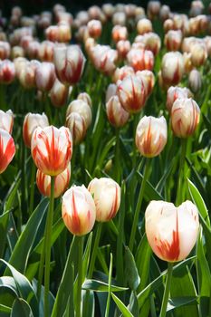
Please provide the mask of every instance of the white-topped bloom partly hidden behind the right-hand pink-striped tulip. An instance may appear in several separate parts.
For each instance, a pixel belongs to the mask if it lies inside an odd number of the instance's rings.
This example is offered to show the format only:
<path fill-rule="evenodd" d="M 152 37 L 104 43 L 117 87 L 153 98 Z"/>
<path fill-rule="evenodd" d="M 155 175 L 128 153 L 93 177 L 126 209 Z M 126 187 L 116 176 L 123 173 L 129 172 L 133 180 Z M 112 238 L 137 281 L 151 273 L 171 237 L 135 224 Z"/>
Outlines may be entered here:
<path fill-rule="evenodd" d="M 173 103 L 177 99 L 184 99 L 191 97 L 190 91 L 186 87 L 169 87 L 167 91 L 167 109 L 170 112 L 173 106 Z"/>

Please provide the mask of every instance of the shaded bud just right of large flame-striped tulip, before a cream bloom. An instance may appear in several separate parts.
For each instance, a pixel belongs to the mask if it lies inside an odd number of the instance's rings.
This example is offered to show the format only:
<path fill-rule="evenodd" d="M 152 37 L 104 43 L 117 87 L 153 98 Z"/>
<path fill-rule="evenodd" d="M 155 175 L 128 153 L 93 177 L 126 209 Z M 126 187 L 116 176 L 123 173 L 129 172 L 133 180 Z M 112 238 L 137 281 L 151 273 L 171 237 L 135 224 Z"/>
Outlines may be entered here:
<path fill-rule="evenodd" d="M 70 113 L 66 118 L 66 127 L 71 131 L 73 143 L 81 143 L 87 131 L 85 120 L 82 115 L 78 112 Z"/>

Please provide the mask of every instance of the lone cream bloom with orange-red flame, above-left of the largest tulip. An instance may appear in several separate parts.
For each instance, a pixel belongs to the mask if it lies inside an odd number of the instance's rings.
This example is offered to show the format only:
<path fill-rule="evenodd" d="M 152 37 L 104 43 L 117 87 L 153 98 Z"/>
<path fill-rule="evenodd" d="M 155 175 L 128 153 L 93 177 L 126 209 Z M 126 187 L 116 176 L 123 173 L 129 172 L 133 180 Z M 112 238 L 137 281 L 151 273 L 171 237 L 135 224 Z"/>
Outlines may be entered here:
<path fill-rule="evenodd" d="M 141 118 L 136 130 L 136 146 L 140 154 L 146 158 L 157 157 L 167 143 L 167 134 L 167 121 L 163 116 Z"/>

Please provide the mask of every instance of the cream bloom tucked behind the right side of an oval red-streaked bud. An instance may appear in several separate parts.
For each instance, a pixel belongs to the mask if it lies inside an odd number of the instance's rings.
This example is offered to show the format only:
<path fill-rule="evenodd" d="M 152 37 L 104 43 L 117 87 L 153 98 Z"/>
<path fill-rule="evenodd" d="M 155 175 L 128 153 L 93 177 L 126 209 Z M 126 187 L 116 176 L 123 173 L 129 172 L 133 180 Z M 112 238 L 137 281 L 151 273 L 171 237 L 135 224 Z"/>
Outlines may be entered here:
<path fill-rule="evenodd" d="M 120 208 L 120 186 L 111 178 L 93 178 L 88 190 L 96 206 L 96 220 L 110 221 Z"/>

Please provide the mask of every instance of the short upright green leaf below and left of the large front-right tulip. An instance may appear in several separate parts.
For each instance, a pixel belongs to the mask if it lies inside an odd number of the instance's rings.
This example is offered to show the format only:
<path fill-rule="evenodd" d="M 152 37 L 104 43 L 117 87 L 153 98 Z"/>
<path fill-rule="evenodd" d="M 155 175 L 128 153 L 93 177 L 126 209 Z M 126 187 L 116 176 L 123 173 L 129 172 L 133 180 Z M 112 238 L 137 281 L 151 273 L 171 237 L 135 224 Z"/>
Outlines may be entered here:
<path fill-rule="evenodd" d="M 128 246 L 125 247 L 125 276 L 129 287 L 136 291 L 140 283 L 139 272 Z"/>

